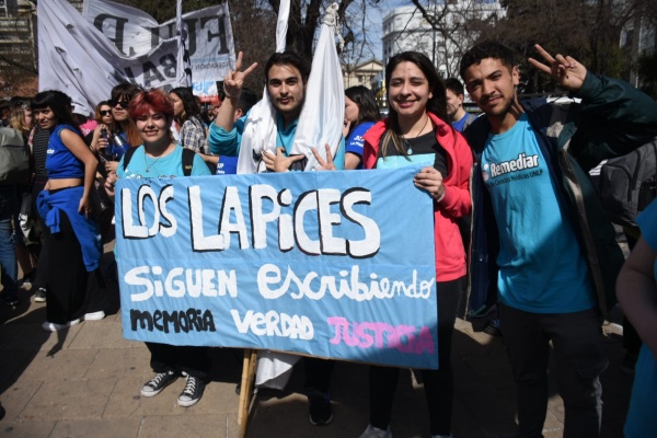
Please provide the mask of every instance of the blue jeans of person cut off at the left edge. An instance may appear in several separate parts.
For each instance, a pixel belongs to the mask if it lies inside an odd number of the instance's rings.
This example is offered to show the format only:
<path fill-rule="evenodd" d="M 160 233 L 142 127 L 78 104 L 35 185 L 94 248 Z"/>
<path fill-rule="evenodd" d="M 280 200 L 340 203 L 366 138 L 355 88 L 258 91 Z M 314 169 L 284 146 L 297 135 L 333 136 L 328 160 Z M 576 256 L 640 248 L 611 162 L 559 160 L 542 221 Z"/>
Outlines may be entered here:
<path fill-rule="evenodd" d="M 15 298 L 18 287 L 16 252 L 13 245 L 13 228 L 11 216 L 14 206 L 14 187 L 0 186 L 0 266 L 1 280 L 5 297 Z"/>

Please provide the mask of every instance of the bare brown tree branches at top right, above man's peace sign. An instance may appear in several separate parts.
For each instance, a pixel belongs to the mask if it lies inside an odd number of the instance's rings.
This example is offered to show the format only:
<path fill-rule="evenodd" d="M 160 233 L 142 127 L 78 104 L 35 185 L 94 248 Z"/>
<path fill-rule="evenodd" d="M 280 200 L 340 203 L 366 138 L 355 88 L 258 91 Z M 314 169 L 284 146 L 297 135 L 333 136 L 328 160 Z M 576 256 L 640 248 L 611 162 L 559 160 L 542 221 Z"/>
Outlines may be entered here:
<path fill-rule="evenodd" d="M 430 0 L 429 4 L 431 1 L 451 2 Z M 423 7 L 420 0 L 411 2 L 424 11 L 429 8 Z M 492 22 L 471 16 L 459 24 L 459 30 L 474 33 L 477 41 L 499 41 L 514 48 L 520 55 L 522 91 L 527 93 L 555 89 L 553 82 L 527 62 L 527 57 L 537 55 L 533 49 L 537 43 L 550 53 L 573 56 L 591 71 L 629 79 L 637 66 L 627 49 L 619 45 L 621 31 L 637 16 L 655 23 L 657 15 L 657 0 L 502 0 L 502 4 L 506 18 Z M 427 19 L 446 37 L 454 34 L 454 28 L 446 26 L 440 15 L 431 20 L 427 14 Z M 643 69 L 642 74 L 646 74 L 644 80 L 650 80 L 657 71 Z"/>

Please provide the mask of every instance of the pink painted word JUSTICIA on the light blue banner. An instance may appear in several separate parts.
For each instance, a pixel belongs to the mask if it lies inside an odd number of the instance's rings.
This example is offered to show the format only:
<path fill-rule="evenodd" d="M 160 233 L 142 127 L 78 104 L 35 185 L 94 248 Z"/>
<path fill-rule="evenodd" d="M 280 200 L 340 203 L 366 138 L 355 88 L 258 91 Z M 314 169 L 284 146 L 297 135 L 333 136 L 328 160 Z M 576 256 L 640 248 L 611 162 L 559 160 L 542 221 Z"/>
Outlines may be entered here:
<path fill-rule="evenodd" d="M 418 330 L 415 325 L 390 325 L 384 322 L 349 323 L 342 316 L 331 316 L 326 321 L 335 327 L 331 344 L 344 342 L 349 347 L 395 348 L 415 355 L 434 353 L 434 338 L 427 326 Z"/>

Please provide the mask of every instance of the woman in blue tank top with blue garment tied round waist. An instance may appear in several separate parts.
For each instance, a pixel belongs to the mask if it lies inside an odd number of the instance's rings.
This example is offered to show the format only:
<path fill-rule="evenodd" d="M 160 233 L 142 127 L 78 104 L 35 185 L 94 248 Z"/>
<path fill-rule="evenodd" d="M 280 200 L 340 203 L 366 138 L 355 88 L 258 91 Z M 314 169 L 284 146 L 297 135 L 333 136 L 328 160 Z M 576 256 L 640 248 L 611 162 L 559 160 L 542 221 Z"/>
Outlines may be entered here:
<path fill-rule="evenodd" d="M 48 182 L 36 200 L 44 220 L 46 266 L 46 322 L 55 332 L 83 319 L 105 316 L 100 310 L 96 283 L 103 255 L 99 229 L 91 215 L 91 191 L 97 160 L 80 137 L 70 97 L 55 90 L 38 93 L 32 102 L 34 120 L 50 132 L 46 151 Z"/>

